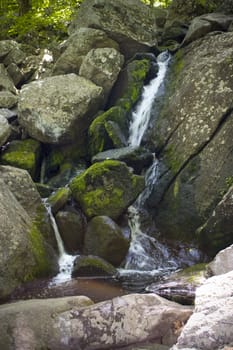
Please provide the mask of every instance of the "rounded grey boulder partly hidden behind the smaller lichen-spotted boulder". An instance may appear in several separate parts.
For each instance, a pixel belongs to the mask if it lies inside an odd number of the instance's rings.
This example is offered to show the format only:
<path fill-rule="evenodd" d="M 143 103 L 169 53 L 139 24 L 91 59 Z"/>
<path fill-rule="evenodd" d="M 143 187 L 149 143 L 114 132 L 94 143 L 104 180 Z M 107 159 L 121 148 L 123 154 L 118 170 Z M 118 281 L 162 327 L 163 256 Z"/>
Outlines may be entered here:
<path fill-rule="evenodd" d="M 83 59 L 91 49 L 114 48 L 119 45 L 105 32 L 94 28 L 79 28 L 62 45 L 62 54 L 53 67 L 53 74 L 79 73 Z"/>

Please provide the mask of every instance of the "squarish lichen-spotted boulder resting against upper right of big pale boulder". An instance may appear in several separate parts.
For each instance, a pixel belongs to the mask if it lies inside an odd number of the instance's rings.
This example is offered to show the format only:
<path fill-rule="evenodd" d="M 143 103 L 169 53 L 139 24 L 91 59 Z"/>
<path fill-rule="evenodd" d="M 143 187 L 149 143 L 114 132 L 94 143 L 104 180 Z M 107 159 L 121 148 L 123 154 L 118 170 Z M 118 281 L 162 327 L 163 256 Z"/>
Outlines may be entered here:
<path fill-rule="evenodd" d="M 114 48 L 92 49 L 84 57 L 79 74 L 104 91 L 107 99 L 124 63 L 124 57 Z"/>

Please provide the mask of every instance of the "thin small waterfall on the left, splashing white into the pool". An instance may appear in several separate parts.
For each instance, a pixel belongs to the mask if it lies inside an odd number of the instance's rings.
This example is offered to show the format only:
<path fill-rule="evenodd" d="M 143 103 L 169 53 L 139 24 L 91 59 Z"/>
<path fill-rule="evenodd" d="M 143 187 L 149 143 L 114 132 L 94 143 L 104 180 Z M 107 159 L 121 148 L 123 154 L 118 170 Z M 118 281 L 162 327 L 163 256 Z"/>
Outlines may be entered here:
<path fill-rule="evenodd" d="M 48 210 L 48 214 L 49 214 L 50 222 L 56 238 L 58 254 L 59 254 L 59 258 L 58 258 L 59 273 L 52 279 L 51 285 L 53 285 L 53 284 L 59 284 L 61 282 L 65 282 L 71 279 L 72 268 L 73 268 L 74 260 L 77 257 L 77 255 L 71 255 L 66 253 L 63 240 L 61 238 L 61 235 L 58 230 L 57 223 L 53 216 L 51 208 L 47 203 L 45 203 L 45 206 Z"/>

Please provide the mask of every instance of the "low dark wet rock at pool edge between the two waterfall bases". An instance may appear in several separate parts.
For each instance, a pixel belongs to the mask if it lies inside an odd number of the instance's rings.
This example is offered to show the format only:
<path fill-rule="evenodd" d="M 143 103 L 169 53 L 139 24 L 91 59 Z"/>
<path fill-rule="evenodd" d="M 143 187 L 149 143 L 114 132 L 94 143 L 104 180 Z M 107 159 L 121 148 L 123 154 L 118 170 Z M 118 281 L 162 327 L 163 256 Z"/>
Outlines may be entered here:
<path fill-rule="evenodd" d="M 74 261 L 72 277 L 115 276 L 117 270 L 107 261 L 94 255 L 79 255 Z"/>

